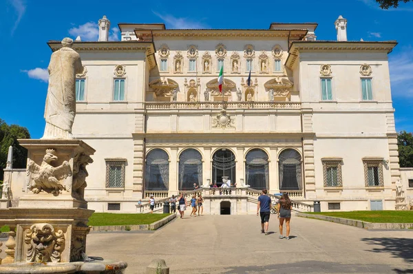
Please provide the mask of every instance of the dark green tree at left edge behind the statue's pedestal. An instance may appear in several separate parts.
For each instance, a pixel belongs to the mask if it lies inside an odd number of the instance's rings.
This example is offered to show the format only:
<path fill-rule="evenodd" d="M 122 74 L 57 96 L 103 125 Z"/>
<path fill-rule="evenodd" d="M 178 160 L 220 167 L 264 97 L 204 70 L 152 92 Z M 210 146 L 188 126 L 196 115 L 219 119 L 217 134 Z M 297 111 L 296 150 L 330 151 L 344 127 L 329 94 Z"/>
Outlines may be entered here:
<path fill-rule="evenodd" d="M 0 180 L 3 180 L 10 145 L 13 147 L 13 168 L 23 169 L 26 166 L 28 150 L 21 147 L 17 139 L 30 139 L 28 129 L 19 125 L 7 125 L 0 119 Z"/>

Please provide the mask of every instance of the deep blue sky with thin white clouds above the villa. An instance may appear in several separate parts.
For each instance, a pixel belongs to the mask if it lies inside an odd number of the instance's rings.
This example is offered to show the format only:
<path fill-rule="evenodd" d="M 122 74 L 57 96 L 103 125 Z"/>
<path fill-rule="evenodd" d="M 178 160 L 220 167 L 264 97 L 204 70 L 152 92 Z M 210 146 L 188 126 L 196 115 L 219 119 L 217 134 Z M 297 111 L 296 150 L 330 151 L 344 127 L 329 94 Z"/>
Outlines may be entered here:
<path fill-rule="evenodd" d="M 149 3 L 154 2 L 154 3 Z M 219 3 L 219 4 L 215 4 Z M 271 22 L 317 22 L 319 40 L 335 40 L 334 21 L 348 20 L 348 39 L 396 40 L 389 55 L 396 130 L 413 131 L 413 3 L 381 10 L 374 0 L 268 1 L 49 1 L 0 0 L 0 118 L 27 127 L 41 138 L 47 93 L 49 40 L 65 36 L 96 40 L 97 21 L 111 21 L 110 39 L 119 39 L 117 24 L 165 23 L 167 28 L 268 28 Z"/>

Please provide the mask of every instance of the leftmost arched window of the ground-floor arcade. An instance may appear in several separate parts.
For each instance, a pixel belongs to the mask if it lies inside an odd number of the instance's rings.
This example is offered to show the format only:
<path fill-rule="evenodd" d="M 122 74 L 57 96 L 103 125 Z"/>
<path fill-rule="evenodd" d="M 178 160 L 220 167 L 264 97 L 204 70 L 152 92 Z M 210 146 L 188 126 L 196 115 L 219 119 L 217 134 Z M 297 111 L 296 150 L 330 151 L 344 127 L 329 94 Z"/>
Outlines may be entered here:
<path fill-rule="evenodd" d="M 152 149 L 146 157 L 145 189 L 168 190 L 169 156 L 162 149 Z"/>

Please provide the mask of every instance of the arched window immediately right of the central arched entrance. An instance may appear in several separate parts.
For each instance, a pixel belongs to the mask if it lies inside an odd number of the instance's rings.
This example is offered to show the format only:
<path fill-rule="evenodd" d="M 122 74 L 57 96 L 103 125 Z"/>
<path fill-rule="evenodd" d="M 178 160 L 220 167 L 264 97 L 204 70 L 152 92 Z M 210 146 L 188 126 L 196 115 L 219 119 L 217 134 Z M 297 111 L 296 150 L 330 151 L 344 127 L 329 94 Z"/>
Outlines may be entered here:
<path fill-rule="evenodd" d="M 246 185 L 268 189 L 268 156 L 262 149 L 252 149 L 245 157 Z"/>

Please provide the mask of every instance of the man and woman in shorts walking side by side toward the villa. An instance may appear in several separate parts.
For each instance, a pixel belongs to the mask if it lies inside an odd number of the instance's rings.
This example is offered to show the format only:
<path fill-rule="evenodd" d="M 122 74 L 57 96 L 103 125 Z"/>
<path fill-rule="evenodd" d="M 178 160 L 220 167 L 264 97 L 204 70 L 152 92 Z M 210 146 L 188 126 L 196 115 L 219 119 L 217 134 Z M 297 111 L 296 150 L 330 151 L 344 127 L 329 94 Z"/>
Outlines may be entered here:
<path fill-rule="evenodd" d="M 261 216 L 261 233 L 268 235 L 268 224 L 271 215 L 271 198 L 267 195 L 267 190 L 262 190 L 262 195 L 258 197 L 257 215 Z M 279 218 L 279 238 L 290 240 L 290 220 L 291 209 L 293 209 L 288 193 L 283 193 L 277 204 L 277 218 Z M 283 235 L 283 225 L 286 222 L 286 236 Z"/>

